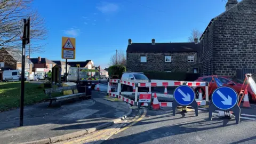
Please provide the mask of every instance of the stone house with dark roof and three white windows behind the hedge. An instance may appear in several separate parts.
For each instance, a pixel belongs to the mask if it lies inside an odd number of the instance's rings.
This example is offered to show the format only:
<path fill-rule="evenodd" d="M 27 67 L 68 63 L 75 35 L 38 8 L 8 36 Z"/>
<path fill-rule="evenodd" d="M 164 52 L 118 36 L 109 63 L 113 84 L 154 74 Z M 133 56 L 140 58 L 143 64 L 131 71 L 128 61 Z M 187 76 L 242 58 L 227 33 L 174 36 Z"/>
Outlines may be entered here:
<path fill-rule="evenodd" d="M 197 43 L 132 43 L 126 50 L 127 71 L 162 71 L 198 73 L 194 65 L 199 60 L 200 44 Z"/>

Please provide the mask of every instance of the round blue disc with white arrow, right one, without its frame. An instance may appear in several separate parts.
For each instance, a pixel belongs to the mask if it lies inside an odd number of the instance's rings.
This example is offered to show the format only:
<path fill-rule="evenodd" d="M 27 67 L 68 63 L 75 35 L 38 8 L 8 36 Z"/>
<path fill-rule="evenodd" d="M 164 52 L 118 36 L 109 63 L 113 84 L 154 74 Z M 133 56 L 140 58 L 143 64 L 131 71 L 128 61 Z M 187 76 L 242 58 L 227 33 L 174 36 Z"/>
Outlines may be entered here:
<path fill-rule="evenodd" d="M 238 102 L 237 92 L 227 86 L 221 86 L 212 93 L 213 104 L 222 110 L 233 108 Z"/>

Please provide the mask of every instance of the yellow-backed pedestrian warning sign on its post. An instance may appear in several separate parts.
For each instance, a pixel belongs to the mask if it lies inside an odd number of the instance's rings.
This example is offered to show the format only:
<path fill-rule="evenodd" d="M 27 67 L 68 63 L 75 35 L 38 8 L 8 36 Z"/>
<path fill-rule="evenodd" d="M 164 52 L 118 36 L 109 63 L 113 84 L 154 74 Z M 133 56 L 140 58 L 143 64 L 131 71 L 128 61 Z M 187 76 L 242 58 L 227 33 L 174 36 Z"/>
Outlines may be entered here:
<path fill-rule="evenodd" d="M 68 59 L 76 59 L 76 39 L 71 37 L 62 37 L 61 58 L 66 59 L 66 75 L 65 82 L 67 82 L 68 74 Z"/>

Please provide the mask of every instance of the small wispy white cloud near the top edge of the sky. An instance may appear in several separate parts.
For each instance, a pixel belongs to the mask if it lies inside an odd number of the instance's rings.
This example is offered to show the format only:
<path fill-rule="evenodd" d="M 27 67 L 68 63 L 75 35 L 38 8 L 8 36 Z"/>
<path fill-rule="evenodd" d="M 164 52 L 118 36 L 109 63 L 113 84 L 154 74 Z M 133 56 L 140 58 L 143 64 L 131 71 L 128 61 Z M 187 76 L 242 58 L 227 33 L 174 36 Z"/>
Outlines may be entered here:
<path fill-rule="evenodd" d="M 117 4 L 107 2 L 102 2 L 101 5 L 96 8 L 102 13 L 117 12 L 119 10 L 119 6 Z"/>

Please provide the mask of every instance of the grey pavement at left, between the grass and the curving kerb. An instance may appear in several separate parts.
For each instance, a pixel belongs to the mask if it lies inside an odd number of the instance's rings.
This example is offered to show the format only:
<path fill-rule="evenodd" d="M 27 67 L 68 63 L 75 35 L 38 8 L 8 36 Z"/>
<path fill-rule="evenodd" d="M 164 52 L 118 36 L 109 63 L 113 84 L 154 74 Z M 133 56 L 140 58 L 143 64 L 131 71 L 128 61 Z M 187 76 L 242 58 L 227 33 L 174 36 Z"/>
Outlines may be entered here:
<path fill-rule="evenodd" d="M 47 107 L 48 102 L 27 106 L 22 127 L 18 127 L 19 109 L 0 113 L 0 143 L 21 143 L 88 130 L 131 111 L 125 102 L 106 101 L 102 99 L 105 96 L 106 93 L 93 91 L 93 99 L 67 101 L 61 107 Z"/>

